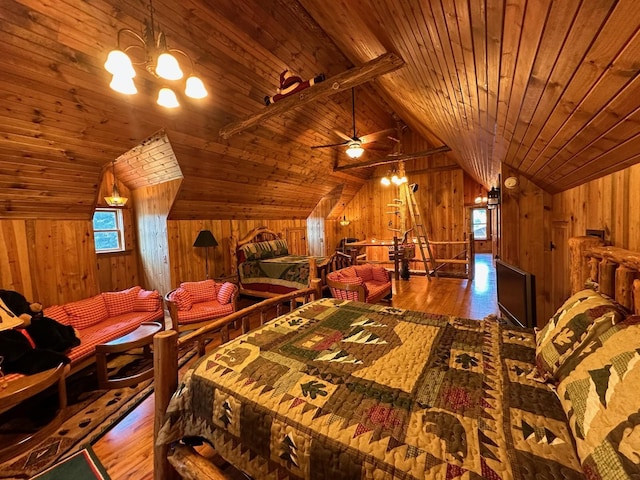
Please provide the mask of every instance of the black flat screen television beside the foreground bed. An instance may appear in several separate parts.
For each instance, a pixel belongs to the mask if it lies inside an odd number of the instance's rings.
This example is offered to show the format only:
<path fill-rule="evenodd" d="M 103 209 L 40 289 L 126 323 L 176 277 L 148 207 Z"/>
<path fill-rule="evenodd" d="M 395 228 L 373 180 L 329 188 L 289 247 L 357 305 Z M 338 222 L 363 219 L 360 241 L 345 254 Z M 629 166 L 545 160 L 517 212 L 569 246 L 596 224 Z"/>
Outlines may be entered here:
<path fill-rule="evenodd" d="M 502 315 L 516 325 L 535 327 L 535 276 L 502 260 L 496 260 L 496 284 L 498 308 Z"/>

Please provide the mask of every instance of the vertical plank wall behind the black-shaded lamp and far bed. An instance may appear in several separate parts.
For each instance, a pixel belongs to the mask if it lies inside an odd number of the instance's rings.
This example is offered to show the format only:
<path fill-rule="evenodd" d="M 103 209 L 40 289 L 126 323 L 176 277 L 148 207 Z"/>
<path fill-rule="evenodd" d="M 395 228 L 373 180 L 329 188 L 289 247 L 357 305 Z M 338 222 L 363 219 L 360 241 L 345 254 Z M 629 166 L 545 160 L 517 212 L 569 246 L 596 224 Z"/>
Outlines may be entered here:
<path fill-rule="evenodd" d="M 204 280 L 205 249 L 193 246 L 200 230 L 211 230 L 218 242 L 217 247 L 209 249 L 209 278 L 221 278 L 231 273 L 229 238 L 232 235 L 239 238 L 262 225 L 280 233 L 282 238 L 287 228 L 307 228 L 306 220 L 169 220 L 171 288 L 180 282 Z"/>

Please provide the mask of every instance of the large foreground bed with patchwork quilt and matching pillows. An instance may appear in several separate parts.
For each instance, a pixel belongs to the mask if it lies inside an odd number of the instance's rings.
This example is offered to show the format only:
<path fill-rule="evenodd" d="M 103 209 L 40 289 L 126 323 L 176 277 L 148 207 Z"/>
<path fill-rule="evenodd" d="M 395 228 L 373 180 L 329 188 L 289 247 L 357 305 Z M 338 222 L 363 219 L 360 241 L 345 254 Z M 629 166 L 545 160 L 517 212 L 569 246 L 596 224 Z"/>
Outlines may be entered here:
<path fill-rule="evenodd" d="M 633 306 L 630 257 L 610 253 L 586 252 L 572 271 L 625 283 L 606 288 Z M 611 264 L 622 273 L 601 275 Z M 574 292 L 537 334 L 316 298 L 189 370 L 157 410 L 156 478 L 175 474 L 169 450 L 184 478 L 216 478 L 192 476 L 197 456 L 181 441 L 194 437 L 256 479 L 636 478 L 638 360 L 640 317 L 594 290 Z"/>

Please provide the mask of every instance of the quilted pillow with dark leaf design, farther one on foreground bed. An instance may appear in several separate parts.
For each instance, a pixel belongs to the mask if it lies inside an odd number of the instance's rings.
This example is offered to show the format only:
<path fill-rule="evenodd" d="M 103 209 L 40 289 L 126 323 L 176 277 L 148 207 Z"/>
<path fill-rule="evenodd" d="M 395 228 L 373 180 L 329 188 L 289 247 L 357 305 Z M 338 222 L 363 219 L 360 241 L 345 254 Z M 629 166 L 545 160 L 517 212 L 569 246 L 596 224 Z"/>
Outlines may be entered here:
<path fill-rule="evenodd" d="M 569 297 L 536 334 L 533 378 L 559 380 L 571 355 L 624 317 L 618 304 L 594 290 L 582 290 Z"/>

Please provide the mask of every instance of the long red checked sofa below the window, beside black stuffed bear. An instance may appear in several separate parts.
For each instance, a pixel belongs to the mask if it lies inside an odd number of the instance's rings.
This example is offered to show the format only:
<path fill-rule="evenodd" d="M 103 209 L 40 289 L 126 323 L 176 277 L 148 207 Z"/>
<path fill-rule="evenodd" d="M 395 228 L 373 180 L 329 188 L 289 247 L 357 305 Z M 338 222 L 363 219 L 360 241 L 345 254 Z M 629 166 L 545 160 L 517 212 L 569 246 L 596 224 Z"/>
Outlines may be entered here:
<path fill-rule="evenodd" d="M 95 360 L 96 345 L 134 331 L 143 322 L 156 321 L 164 328 L 162 297 L 155 290 L 135 286 L 118 292 L 103 292 L 90 298 L 44 309 L 44 315 L 78 332 L 80 345 L 67 354 L 71 371 Z"/>

